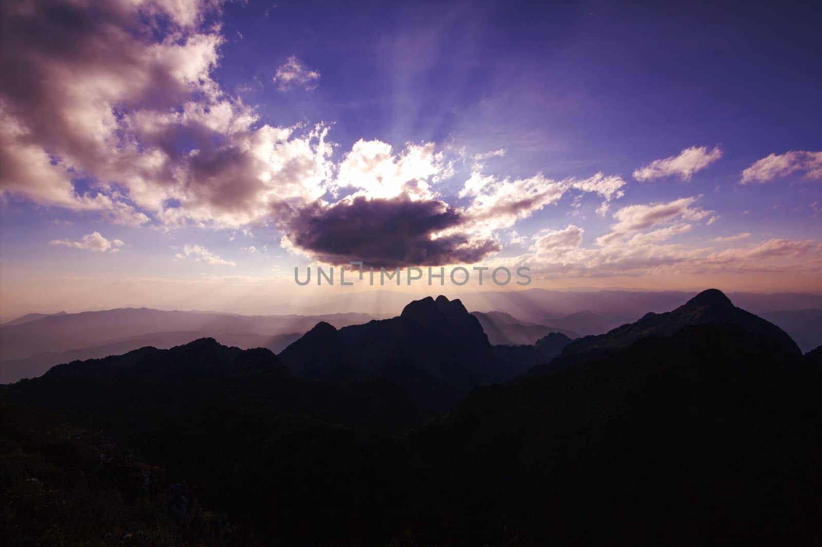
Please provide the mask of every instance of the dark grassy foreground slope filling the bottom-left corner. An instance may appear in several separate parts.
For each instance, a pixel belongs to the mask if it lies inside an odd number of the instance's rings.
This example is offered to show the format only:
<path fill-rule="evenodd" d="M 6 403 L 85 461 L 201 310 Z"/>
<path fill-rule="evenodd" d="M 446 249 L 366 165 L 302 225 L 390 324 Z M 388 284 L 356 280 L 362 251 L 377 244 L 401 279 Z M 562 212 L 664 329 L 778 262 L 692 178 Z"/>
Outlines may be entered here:
<path fill-rule="evenodd" d="M 4 545 L 205 547 L 232 533 L 187 485 L 99 431 L 0 404 L 0 446 Z"/>

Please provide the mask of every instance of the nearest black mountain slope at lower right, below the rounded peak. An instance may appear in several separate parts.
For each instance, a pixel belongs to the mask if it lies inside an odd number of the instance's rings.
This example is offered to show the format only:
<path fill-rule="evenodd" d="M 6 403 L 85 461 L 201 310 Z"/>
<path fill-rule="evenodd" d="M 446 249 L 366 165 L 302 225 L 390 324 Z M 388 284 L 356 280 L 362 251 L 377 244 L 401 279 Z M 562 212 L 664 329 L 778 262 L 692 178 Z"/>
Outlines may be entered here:
<path fill-rule="evenodd" d="M 475 389 L 410 435 L 412 503 L 462 545 L 816 545 L 820 392 L 776 338 L 683 326 Z"/>

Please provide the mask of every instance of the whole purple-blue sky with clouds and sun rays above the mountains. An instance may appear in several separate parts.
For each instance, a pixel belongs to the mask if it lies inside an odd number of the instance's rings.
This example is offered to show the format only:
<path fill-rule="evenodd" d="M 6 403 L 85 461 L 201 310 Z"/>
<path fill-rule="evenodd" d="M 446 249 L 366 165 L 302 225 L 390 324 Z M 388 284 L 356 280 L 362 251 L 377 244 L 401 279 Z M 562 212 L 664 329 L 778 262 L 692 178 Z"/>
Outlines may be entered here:
<path fill-rule="evenodd" d="M 822 292 L 822 8 L 657 3 L 3 2 L 0 319 Z"/>

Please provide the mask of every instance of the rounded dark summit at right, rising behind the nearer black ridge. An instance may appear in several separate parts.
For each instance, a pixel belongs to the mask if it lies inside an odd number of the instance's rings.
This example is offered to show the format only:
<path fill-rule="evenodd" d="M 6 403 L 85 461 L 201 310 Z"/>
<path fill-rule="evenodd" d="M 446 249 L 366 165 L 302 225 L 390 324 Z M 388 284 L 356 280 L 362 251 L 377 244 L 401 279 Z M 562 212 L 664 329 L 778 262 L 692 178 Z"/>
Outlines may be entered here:
<path fill-rule="evenodd" d="M 717 289 L 700 292 L 676 310 L 663 314 L 649 312 L 635 323 L 624 324 L 598 336 L 586 336 L 568 344 L 550 366 L 566 366 L 589 359 L 592 353 L 604 353 L 627 347 L 640 338 L 670 337 L 686 326 L 699 324 L 733 324 L 747 332 L 773 338 L 787 352 L 801 355 L 796 342 L 782 329 L 746 310 L 737 308 Z M 542 369 L 544 371 L 544 369 Z"/>

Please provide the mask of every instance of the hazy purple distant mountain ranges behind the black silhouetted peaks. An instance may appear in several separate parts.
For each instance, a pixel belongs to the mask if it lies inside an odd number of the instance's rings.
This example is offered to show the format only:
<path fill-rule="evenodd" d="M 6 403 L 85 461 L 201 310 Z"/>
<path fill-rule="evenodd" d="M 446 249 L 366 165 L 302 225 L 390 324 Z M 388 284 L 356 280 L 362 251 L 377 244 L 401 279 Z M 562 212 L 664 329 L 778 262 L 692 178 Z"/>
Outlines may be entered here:
<path fill-rule="evenodd" d="M 692 292 L 593 291 L 468 293 L 461 301 L 479 320 L 492 345 L 531 345 L 547 333 L 569 338 L 602 334 L 649 311 L 681 306 Z M 822 345 L 822 296 L 801 293 L 730 293 L 733 301 L 785 330 L 803 352 Z M 407 296 L 381 293 L 380 310 Z M 406 301 L 407 302 L 407 301 Z M 50 366 L 127 352 L 142 346 L 173 347 L 211 337 L 241 348 L 280 352 L 316 323 L 336 328 L 363 324 L 373 315 L 237 315 L 148 308 L 77 314 L 29 314 L 0 325 L 0 384 L 35 377 Z M 510 353 L 510 352 L 509 352 Z M 533 358 L 537 358 L 531 354 Z"/>

